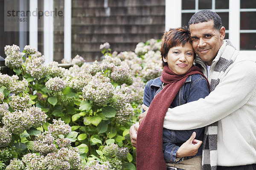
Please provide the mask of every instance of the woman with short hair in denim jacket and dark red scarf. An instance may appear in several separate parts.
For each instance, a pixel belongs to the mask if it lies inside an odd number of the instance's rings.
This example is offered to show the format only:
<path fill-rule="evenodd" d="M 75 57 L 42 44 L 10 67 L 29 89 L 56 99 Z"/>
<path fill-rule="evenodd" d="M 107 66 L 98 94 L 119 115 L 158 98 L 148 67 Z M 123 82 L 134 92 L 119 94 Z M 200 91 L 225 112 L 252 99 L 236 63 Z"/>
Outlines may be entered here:
<path fill-rule="evenodd" d="M 194 131 L 203 140 L 204 127 L 168 130 L 163 120 L 168 108 L 207 96 L 209 82 L 193 65 L 196 54 L 187 27 L 165 32 L 162 43 L 162 76 L 149 80 L 144 90 L 143 104 L 149 109 L 137 134 L 137 170 L 166 170 L 166 164 L 170 170 L 201 170 L 202 149 L 195 156 L 180 158 L 188 155 L 180 154 L 179 148 Z"/>

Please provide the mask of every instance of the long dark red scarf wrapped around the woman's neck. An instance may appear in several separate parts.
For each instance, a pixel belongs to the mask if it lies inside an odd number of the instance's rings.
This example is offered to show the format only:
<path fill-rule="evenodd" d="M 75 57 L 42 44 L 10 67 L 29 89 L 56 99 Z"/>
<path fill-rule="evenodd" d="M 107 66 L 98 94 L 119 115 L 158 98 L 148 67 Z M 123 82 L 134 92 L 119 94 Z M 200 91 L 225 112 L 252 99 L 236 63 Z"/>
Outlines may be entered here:
<path fill-rule="evenodd" d="M 186 79 L 192 74 L 204 74 L 193 66 L 183 75 L 173 73 L 168 65 L 163 68 L 161 81 L 167 85 L 154 97 L 137 134 L 137 170 L 166 170 L 163 158 L 163 121 L 166 112 Z M 209 85 L 209 83 L 208 83 Z"/>

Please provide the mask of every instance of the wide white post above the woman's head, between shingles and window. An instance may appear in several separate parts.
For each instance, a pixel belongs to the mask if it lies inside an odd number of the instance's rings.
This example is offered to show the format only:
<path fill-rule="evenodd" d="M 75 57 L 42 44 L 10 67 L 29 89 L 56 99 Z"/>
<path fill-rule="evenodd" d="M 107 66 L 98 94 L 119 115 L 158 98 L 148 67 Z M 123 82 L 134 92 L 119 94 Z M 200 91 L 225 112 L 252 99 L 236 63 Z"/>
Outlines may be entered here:
<path fill-rule="evenodd" d="M 181 26 L 181 0 L 166 0 L 165 30 Z"/>

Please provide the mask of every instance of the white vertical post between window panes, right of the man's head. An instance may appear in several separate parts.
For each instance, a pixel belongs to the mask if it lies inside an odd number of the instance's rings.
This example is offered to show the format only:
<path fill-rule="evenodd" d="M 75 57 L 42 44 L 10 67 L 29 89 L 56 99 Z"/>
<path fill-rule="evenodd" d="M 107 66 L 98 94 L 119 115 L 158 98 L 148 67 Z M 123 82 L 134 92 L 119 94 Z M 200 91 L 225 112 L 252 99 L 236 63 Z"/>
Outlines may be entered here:
<path fill-rule="evenodd" d="M 240 0 L 229 1 L 229 39 L 240 49 Z"/>

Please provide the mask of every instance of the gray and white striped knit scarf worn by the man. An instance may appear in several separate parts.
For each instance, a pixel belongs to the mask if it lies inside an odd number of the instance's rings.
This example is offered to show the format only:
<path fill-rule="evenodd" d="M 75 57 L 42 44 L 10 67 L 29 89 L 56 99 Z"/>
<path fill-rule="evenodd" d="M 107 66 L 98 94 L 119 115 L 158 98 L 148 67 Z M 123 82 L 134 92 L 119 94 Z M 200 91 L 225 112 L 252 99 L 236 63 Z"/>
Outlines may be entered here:
<path fill-rule="evenodd" d="M 229 40 L 224 40 L 223 45 L 218 51 L 217 56 L 212 62 L 208 80 L 210 83 L 210 92 L 212 92 L 219 84 L 220 80 L 229 70 L 229 66 L 233 64 L 238 51 L 230 43 Z M 203 141 L 203 159 L 202 170 L 216 170 L 217 169 L 217 135 L 218 122 L 205 127 L 204 141 Z"/>

